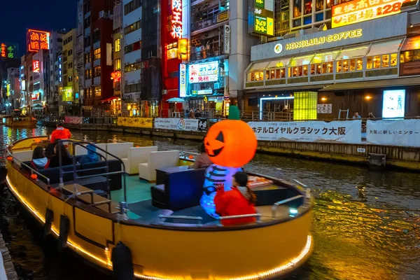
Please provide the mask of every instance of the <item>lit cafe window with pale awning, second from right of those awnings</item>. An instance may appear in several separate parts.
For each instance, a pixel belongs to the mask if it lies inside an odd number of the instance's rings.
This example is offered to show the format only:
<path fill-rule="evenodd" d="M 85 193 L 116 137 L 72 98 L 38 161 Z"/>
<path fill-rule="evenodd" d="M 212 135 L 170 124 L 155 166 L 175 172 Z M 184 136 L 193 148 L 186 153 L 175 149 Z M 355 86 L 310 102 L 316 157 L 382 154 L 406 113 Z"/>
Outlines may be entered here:
<path fill-rule="evenodd" d="M 343 49 L 336 62 L 337 73 L 363 71 L 363 57 L 365 57 L 370 44 L 360 45 L 357 48 Z"/>

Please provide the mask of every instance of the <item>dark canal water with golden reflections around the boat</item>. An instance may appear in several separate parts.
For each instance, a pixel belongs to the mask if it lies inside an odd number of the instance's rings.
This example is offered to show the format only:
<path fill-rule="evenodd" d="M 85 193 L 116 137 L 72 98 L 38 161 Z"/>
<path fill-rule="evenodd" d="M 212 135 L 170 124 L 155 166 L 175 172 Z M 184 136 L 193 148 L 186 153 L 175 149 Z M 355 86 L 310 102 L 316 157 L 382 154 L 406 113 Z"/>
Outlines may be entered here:
<path fill-rule="evenodd" d="M 51 131 L 0 126 L 0 152 L 10 141 Z M 190 152 L 199 146 L 196 141 L 117 132 L 72 133 L 78 139 L 87 134 L 97 142 L 118 139 Z M 420 279 L 419 172 L 266 154 L 256 155 L 246 170 L 297 179 L 314 190 L 315 251 L 292 279 Z M 21 279 L 111 279 L 71 253 L 57 255 L 55 244 L 43 243 L 41 228 L 7 191 L 0 199 L 0 230 Z"/>

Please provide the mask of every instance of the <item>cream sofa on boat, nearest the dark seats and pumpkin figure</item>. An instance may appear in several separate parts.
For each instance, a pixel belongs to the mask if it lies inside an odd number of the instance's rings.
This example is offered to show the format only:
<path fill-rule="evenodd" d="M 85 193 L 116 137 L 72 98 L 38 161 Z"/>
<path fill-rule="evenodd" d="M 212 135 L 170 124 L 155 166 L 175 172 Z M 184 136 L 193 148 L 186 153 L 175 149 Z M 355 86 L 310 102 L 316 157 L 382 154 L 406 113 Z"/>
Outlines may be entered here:
<path fill-rule="evenodd" d="M 179 151 L 151 152 L 148 162 L 139 163 L 139 178 L 154 182 L 156 181 L 156 169 L 175 167 L 178 164 Z"/>

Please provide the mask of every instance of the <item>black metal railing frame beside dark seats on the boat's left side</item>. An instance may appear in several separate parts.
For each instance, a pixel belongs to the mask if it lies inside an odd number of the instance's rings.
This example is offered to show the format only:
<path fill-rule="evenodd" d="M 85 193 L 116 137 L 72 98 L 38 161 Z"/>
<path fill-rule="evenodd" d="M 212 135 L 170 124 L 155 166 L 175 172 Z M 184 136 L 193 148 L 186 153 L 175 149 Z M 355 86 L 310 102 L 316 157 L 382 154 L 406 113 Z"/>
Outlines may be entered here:
<path fill-rule="evenodd" d="M 59 142 L 63 142 L 63 141 L 59 141 Z M 64 186 L 63 183 L 63 175 L 64 174 L 68 174 L 68 173 L 73 173 L 74 174 L 74 193 L 77 194 L 77 188 L 76 188 L 76 183 L 78 179 L 88 179 L 88 178 L 93 178 L 93 177 L 98 177 L 98 176 L 106 176 L 106 186 L 107 186 L 107 190 L 108 190 L 108 195 L 109 195 L 109 200 L 111 200 L 111 190 L 109 188 L 109 175 L 114 175 L 114 174 L 123 174 L 123 191 L 124 191 L 124 201 L 127 201 L 127 190 L 126 190 L 126 180 L 125 180 L 125 165 L 123 160 L 121 160 L 120 158 L 116 157 L 116 155 L 113 155 L 111 153 L 109 153 L 108 151 L 104 150 L 103 148 L 100 148 L 99 146 L 96 146 L 95 144 L 92 144 L 92 142 L 88 142 L 88 141 L 68 141 L 73 145 L 73 170 L 70 172 L 64 172 L 62 170 L 62 156 L 61 156 L 61 150 L 59 150 L 59 181 L 60 184 L 59 186 Z M 102 151 L 103 153 L 105 153 L 106 157 L 104 155 L 102 155 L 101 153 L 99 153 L 98 151 L 95 151 L 92 148 L 87 147 L 87 145 L 91 145 L 93 146 L 96 150 Z M 80 146 L 85 148 L 88 151 L 92 151 L 93 153 L 99 155 L 99 158 L 103 158 L 106 162 L 106 166 L 105 167 L 94 167 L 94 168 L 90 168 L 90 169 L 80 169 L 77 170 L 76 169 L 76 146 Z M 116 160 L 118 160 L 121 164 L 121 167 L 123 170 L 121 171 L 117 171 L 117 172 L 109 172 L 109 162 L 108 162 L 108 158 L 115 158 Z M 99 170 L 99 169 L 104 169 L 106 168 L 106 172 L 105 173 L 100 173 L 100 174 L 93 174 L 93 175 L 85 175 L 85 176 L 78 176 L 77 173 L 78 172 L 87 172 L 87 171 L 94 171 L 94 170 Z"/>

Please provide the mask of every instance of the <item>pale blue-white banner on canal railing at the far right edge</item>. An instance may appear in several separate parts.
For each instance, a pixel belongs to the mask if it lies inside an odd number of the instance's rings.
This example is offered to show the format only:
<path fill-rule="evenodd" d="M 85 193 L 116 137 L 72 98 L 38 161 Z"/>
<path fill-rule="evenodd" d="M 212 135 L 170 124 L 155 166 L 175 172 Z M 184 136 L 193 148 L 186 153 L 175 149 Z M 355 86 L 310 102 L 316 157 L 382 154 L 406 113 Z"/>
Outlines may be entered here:
<path fill-rule="evenodd" d="M 367 120 L 370 144 L 420 147 L 420 120 Z"/>

